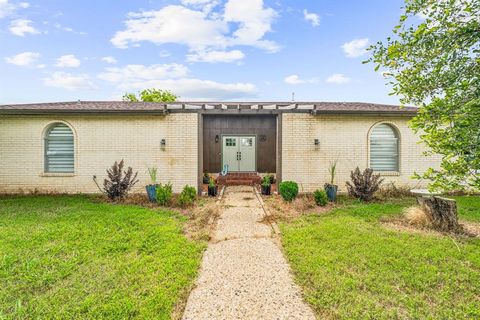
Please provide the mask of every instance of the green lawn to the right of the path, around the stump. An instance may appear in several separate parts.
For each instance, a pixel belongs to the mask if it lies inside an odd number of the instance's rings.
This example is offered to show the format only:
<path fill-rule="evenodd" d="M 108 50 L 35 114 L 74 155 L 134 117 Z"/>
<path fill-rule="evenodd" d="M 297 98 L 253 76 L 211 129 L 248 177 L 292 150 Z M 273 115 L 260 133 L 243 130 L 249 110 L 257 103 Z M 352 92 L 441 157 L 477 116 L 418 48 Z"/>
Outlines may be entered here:
<path fill-rule="evenodd" d="M 479 197 L 457 200 L 461 219 L 480 220 Z M 346 204 L 281 223 L 296 281 L 320 318 L 480 318 L 480 240 L 380 224 L 413 203 Z"/>

